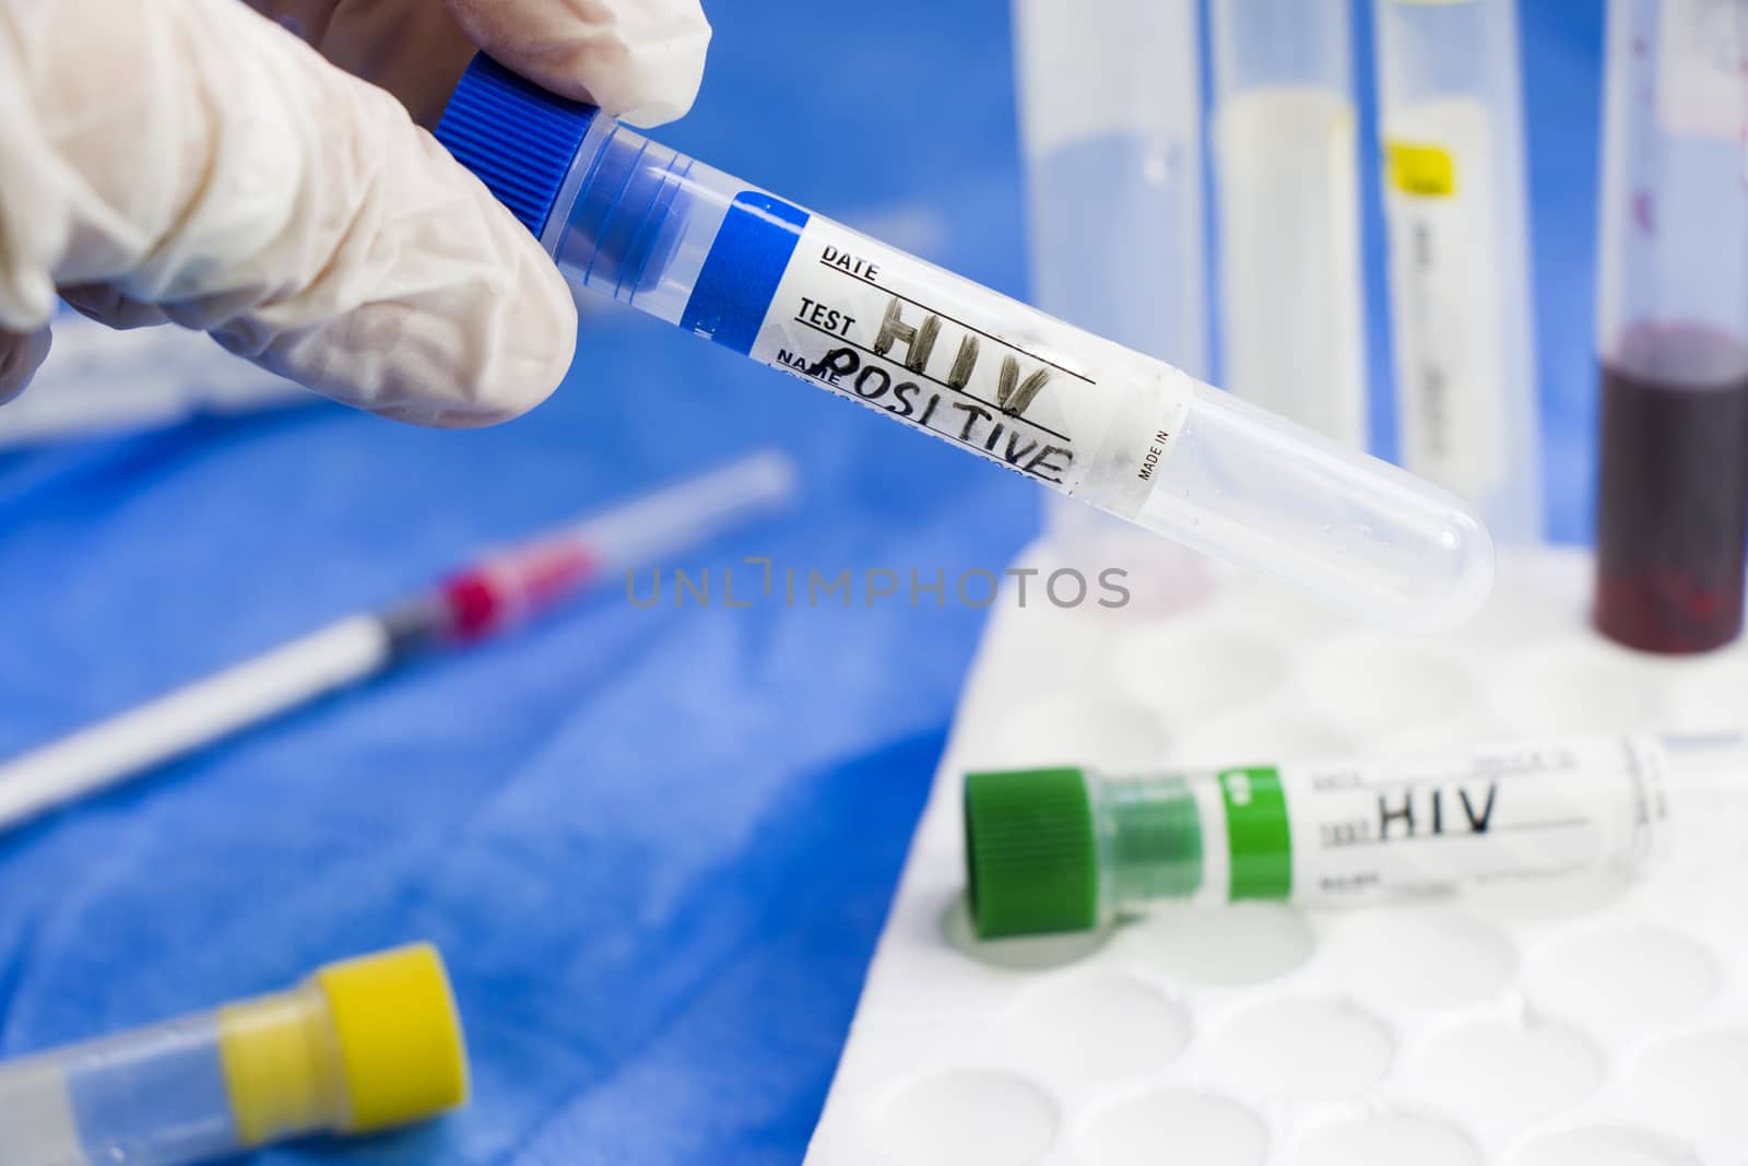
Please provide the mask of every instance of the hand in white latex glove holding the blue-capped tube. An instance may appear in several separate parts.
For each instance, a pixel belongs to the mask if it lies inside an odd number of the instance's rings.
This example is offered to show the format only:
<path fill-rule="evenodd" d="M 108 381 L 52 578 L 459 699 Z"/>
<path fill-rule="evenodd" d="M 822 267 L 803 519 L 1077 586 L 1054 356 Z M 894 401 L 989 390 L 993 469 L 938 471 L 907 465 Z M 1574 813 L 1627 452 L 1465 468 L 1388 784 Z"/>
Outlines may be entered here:
<path fill-rule="evenodd" d="M 0 0 L 0 400 L 47 355 L 58 294 L 406 421 L 544 400 L 570 292 L 409 110 L 434 122 L 479 45 L 638 124 L 678 117 L 710 40 L 697 0 L 250 7 Z"/>

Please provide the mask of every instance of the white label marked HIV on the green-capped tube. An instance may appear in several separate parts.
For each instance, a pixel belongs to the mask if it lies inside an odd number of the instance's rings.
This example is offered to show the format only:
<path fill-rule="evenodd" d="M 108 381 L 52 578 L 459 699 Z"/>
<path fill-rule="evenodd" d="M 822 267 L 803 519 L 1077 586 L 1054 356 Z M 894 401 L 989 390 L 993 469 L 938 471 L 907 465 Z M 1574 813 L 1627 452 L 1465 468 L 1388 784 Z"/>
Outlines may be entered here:
<path fill-rule="evenodd" d="M 1652 738 L 1295 766 L 1280 781 L 1292 895 L 1302 902 L 1589 874 L 1648 857 L 1666 816 L 1664 753 Z"/>

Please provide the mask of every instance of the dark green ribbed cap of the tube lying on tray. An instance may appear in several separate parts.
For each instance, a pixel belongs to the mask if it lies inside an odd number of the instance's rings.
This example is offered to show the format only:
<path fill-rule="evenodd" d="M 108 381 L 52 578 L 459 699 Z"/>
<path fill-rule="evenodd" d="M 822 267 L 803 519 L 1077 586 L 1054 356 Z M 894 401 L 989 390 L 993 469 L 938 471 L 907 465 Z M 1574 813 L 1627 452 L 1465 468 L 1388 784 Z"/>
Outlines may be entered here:
<path fill-rule="evenodd" d="M 1086 774 L 965 774 L 965 872 L 979 939 L 1098 927 L 1098 844 Z"/>

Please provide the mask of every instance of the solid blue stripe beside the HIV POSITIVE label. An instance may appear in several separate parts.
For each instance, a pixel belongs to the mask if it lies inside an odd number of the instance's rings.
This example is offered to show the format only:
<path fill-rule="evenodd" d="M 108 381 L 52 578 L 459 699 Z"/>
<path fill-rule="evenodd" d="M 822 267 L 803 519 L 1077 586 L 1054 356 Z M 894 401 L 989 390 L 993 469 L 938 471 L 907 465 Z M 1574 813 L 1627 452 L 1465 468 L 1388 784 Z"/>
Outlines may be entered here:
<path fill-rule="evenodd" d="M 680 327 L 743 357 L 752 353 L 806 226 L 808 212 L 799 206 L 757 191 L 736 194 L 680 313 Z"/>

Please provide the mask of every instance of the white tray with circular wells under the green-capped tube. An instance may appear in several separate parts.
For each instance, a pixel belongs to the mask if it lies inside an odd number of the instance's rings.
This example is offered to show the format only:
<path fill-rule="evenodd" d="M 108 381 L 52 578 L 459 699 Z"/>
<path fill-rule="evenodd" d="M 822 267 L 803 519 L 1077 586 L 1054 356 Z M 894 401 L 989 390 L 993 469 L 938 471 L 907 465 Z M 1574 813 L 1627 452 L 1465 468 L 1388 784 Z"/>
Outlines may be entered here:
<path fill-rule="evenodd" d="M 1047 544 L 1023 563 L 1047 572 Z M 808 1166 L 1748 1163 L 1748 836 L 1533 899 L 1168 907 L 970 939 L 970 767 L 1748 722 L 1748 650 L 1617 649 L 1585 624 L 1587 572 L 1568 552 L 1507 563 L 1482 617 L 1442 638 L 1260 584 L 1117 612 L 1003 596 Z"/>

